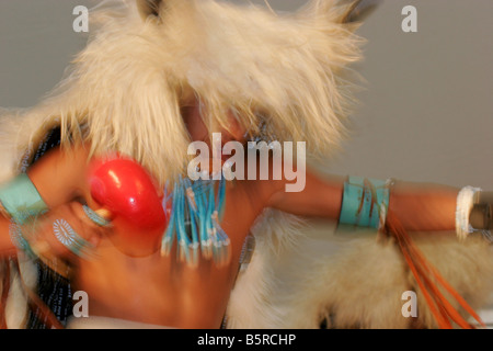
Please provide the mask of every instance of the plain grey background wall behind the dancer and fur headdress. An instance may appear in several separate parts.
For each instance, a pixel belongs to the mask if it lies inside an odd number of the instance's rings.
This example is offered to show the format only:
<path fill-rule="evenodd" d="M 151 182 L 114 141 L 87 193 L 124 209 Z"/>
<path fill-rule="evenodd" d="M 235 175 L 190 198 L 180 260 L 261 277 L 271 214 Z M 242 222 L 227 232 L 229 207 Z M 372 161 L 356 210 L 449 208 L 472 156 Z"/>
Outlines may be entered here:
<path fill-rule="evenodd" d="M 72 9 L 96 3 L 0 0 L 0 106 L 31 106 L 60 80 L 87 41 L 72 31 Z M 306 1 L 270 3 L 290 11 Z M 408 4 L 417 33 L 401 30 Z M 493 190 L 492 13 L 491 0 L 383 1 L 358 32 L 367 44 L 355 68 L 367 82 L 354 135 L 319 169 Z M 331 228 L 313 225 L 313 248 L 337 249 Z M 493 322 L 493 309 L 484 313 Z"/>

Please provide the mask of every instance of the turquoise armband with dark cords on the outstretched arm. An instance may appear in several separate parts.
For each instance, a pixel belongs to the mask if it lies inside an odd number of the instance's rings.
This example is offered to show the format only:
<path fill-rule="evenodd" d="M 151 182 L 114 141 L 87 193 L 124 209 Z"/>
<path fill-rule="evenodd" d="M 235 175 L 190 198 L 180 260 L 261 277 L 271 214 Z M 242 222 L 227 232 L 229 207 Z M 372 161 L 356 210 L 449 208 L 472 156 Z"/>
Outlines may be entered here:
<path fill-rule="evenodd" d="M 389 207 L 389 182 L 348 177 L 344 183 L 340 224 L 380 228 L 381 216 Z"/>

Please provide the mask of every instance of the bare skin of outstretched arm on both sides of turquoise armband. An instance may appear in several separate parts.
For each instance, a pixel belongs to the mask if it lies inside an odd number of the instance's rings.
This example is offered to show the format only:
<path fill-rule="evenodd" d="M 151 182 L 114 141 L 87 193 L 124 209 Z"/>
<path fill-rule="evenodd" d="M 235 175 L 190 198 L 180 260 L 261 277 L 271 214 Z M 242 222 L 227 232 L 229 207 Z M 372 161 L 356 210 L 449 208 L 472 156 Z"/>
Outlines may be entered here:
<path fill-rule="evenodd" d="M 301 192 L 286 192 L 284 181 L 277 181 L 268 205 L 301 216 L 339 220 L 345 180 L 307 170 Z M 395 181 L 389 189 L 388 216 L 397 216 L 408 230 L 455 230 L 458 193 L 459 189 L 452 186 Z"/>

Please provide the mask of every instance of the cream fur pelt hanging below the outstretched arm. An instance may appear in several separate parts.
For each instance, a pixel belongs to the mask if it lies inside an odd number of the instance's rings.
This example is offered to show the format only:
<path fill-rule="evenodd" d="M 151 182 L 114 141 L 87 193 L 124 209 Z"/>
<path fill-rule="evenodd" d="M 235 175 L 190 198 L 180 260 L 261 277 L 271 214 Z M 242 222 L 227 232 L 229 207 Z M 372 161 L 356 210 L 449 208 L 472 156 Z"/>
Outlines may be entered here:
<path fill-rule="evenodd" d="M 300 235 L 306 225 L 268 214 L 229 307 L 231 328 L 437 328 L 402 253 L 375 233 Z M 297 229 L 296 229 L 297 228 Z M 256 233 L 256 231 L 255 231 Z M 276 233 L 289 245 L 265 245 Z M 268 234 L 264 236 L 264 234 Z M 287 239 L 286 235 L 290 235 Z M 473 307 L 491 303 L 492 248 L 483 238 L 459 242 L 423 233 L 414 241 L 428 261 Z M 417 317 L 404 317 L 404 292 L 416 293 Z M 450 299 L 463 316 L 466 312 Z"/>

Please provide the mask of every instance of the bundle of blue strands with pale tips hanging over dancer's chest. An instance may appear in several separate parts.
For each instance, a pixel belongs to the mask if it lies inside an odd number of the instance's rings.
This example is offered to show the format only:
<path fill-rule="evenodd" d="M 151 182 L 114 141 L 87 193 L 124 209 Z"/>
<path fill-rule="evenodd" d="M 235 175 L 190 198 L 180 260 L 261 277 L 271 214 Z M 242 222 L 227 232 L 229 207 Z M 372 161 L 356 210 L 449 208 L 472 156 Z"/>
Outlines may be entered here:
<path fill-rule="evenodd" d="M 231 258 L 228 235 L 220 226 L 226 202 L 226 180 L 191 181 L 182 178 L 171 192 L 165 188 L 164 202 L 172 201 L 170 222 L 162 239 L 161 254 L 169 256 L 176 237 L 177 257 L 192 267 L 199 260 L 214 259 L 217 265 Z"/>

